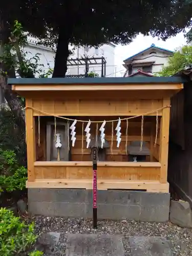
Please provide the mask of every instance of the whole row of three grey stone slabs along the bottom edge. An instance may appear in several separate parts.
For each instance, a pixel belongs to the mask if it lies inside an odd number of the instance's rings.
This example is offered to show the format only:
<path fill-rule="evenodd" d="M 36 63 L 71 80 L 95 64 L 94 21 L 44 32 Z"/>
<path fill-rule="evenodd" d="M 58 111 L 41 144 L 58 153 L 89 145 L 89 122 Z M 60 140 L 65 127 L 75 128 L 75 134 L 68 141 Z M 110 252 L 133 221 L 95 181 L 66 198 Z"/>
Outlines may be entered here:
<path fill-rule="evenodd" d="M 124 240 L 128 242 L 131 254 L 127 254 Z M 37 248 L 46 256 L 173 256 L 168 241 L 162 237 L 134 236 L 125 239 L 114 234 L 47 232 L 42 234 L 38 243 L 40 246 Z"/>

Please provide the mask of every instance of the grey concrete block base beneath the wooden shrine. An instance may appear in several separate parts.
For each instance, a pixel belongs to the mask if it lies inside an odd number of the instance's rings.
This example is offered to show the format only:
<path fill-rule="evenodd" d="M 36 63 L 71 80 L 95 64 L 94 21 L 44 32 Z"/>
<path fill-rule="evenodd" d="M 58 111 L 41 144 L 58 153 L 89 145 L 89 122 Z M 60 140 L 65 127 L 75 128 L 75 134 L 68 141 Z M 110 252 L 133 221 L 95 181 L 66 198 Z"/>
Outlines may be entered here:
<path fill-rule="evenodd" d="M 130 219 L 166 222 L 169 193 L 146 191 L 98 190 L 98 219 Z M 92 190 L 29 188 L 29 211 L 35 215 L 92 218 Z"/>

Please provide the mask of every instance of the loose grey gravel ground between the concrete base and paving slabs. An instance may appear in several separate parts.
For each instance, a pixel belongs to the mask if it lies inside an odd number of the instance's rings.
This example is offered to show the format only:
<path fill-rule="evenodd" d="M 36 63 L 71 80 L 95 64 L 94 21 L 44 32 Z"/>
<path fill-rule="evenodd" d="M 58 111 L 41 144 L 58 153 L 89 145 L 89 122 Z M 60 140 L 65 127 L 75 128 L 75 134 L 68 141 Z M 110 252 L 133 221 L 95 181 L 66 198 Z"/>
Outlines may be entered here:
<path fill-rule="evenodd" d="M 91 220 L 35 217 L 36 233 L 60 232 L 59 243 L 54 255 L 66 255 L 67 233 L 120 234 L 123 237 L 125 256 L 131 256 L 128 238 L 131 236 L 160 236 L 166 238 L 172 247 L 173 256 L 192 255 L 192 229 L 181 228 L 172 223 L 148 223 L 135 221 L 98 221 L 98 228 L 92 228 Z"/>

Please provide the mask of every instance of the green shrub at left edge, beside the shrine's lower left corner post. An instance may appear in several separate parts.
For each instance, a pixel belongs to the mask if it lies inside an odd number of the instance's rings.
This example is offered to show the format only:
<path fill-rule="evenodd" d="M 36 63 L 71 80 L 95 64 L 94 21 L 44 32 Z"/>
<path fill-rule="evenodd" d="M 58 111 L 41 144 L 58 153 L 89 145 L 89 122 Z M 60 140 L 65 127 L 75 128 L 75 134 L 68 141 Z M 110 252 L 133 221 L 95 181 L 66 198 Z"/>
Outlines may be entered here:
<path fill-rule="evenodd" d="M 18 166 L 16 154 L 13 151 L 0 150 L 0 191 L 25 189 L 27 169 Z"/>

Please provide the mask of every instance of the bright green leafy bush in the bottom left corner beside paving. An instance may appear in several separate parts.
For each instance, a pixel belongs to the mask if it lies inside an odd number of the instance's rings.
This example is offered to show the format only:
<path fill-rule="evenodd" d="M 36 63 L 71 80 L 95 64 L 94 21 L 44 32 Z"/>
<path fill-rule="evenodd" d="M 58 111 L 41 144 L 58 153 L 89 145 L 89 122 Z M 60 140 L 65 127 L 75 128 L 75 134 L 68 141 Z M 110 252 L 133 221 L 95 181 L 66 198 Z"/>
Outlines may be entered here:
<path fill-rule="evenodd" d="M 0 255 L 19 255 L 29 249 L 36 239 L 33 223 L 27 225 L 19 217 L 15 217 L 12 211 L 0 208 Z M 31 255 L 38 256 L 42 253 L 36 252 Z"/>

